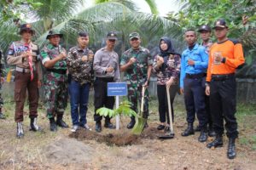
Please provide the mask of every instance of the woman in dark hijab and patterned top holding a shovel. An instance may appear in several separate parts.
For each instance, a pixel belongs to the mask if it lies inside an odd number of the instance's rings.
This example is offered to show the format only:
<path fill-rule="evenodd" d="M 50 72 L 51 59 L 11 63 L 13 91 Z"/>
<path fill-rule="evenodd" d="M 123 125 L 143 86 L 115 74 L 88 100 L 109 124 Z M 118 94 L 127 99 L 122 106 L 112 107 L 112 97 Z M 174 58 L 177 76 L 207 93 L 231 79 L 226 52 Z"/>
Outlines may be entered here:
<path fill-rule="evenodd" d="M 180 54 L 175 53 L 171 39 L 168 37 L 160 38 L 160 53 L 154 57 L 153 71 L 157 75 L 157 97 L 160 114 L 160 125 L 157 129 L 165 129 L 165 132 L 170 131 L 166 86 L 170 90 L 173 122 L 173 101 L 178 91 L 180 61 Z M 166 124 L 166 116 L 168 125 Z"/>

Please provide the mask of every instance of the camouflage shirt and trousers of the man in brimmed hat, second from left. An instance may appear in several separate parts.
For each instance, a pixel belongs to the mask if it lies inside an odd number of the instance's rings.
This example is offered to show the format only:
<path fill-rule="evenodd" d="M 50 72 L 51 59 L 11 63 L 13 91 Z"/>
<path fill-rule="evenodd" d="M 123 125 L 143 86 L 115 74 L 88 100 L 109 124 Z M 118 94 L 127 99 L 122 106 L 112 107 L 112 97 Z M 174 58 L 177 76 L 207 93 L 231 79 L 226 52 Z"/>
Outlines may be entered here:
<path fill-rule="evenodd" d="M 65 50 L 61 45 L 55 47 L 48 43 L 41 50 L 42 64 L 54 59 Z M 55 114 L 62 115 L 67 107 L 67 63 L 62 59 L 55 63 L 53 68 L 46 69 L 44 75 L 45 99 L 48 118 Z"/>

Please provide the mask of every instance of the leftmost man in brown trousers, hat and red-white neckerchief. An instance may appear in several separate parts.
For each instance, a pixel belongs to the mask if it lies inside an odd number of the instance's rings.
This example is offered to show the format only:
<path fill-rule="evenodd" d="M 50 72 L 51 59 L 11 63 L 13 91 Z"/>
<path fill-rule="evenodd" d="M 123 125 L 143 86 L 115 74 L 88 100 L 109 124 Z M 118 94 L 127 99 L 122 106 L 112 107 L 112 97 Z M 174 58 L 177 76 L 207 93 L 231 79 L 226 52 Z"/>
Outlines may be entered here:
<path fill-rule="evenodd" d="M 26 101 L 26 90 L 29 100 L 29 117 L 31 119 L 30 130 L 38 131 L 38 86 L 41 79 L 38 62 L 39 49 L 31 39 L 35 31 L 32 26 L 24 24 L 20 26 L 21 41 L 12 42 L 7 57 L 9 65 L 16 65 L 15 68 L 15 122 L 17 122 L 17 137 L 24 136 L 22 127 L 23 108 Z"/>

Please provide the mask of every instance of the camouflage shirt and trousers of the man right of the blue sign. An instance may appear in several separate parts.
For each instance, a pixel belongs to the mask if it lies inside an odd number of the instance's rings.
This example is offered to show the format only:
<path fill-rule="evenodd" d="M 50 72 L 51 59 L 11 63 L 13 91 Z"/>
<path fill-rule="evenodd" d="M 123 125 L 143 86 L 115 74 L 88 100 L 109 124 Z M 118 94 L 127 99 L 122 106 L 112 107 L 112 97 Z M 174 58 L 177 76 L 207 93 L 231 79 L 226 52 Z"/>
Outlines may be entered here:
<path fill-rule="evenodd" d="M 132 48 L 122 55 L 120 65 L 125 65 L 134 57 L 137 61 L 125 71 L 125 81 L 128 86 L 128 100 L 131 102 L 131 109 L 137 112 L 137 99 L 141 102 L 142 87 L 147 81 L 148 65 L 153 65 L 153 59 L 147 48 L 140 47 L 138 50 Z M 144 94 L 143 117 L 148 117 L 148 89 Z"/>

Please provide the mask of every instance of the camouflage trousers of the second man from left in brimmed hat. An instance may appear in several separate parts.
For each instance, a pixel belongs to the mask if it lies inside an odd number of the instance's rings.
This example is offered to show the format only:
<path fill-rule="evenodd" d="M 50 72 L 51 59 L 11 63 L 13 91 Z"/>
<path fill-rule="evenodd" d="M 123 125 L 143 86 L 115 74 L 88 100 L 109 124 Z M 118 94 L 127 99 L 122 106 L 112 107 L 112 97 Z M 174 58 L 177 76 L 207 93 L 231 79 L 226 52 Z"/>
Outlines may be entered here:
<path fill-rule="evenodd" d="M 67 82 L 47 81 L 44 88 L 47 117 L 63 114 L 67 108 Z"/>

